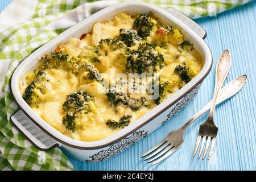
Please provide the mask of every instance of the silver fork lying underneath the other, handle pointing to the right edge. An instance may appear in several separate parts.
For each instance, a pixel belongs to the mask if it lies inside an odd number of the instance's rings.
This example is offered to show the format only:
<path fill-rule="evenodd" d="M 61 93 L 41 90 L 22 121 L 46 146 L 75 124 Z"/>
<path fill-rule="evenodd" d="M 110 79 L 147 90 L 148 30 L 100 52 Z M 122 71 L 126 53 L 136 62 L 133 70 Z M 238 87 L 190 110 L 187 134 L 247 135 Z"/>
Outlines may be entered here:
<path fill-rule="evenodd" d="M 247 79 L 246 75 L 242 75 L 236 78 L 233 81 L 230 81 L 228 84 L 224 86 L 220 90 L 220 93 L 217 97 L 217 104 L 224 102 L 228 98 L 234 96 L 237 92 L 239 92 L 243 85 L 245 84 Z M 180 129 L 171 131 L 166 138 L 162 140 L 162 142 L 156 144 L 151 150 L 143 154 L 141 157 L 147 156 L 144 160 L 148 160 L 148 163 L 153 162 L 152 165 L 161 162 L 166 159 L 168 156 L 173 154 L 177 148 L 181 146 L 183 143 L 184 131 L 190 126 L 197 118 L 199 118 L 202 114 L 210 109 L 210 105 L 212 101 L 210 101 L 203 109 L 201 109 L 198 113 L 196 113 L 191 119 L 189 119 Z M 168 148 L 167 148 L 168 147 Z M 171 150 L 172 149 L 172 150 Z"/>

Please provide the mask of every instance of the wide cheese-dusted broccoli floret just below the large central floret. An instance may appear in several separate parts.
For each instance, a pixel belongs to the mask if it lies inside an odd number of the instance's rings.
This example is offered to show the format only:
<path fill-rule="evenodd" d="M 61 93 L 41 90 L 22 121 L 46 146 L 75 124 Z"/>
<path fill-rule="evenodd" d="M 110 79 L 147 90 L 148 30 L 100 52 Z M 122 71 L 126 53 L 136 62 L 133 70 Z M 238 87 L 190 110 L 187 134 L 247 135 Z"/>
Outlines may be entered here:
<path fill-rule="evenodd" d="M 120 104 L 129 107 L 132 111 L 138 111 L 142 107 L 147 106 L 147 100 L 145 97 L 133 98 L 129 93 L 106 93 L 108 101 L 111 106 L 116 107 Z"/>

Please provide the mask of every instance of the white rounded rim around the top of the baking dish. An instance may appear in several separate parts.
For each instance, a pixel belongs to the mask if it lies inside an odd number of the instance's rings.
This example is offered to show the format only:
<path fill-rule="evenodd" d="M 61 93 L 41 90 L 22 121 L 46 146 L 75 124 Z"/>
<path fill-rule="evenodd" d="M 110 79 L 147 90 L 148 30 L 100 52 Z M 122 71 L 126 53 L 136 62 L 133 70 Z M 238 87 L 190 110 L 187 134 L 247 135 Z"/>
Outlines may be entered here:
<path fill-rule="evenodd" d="M 171 22 L 174 22 L 177 24 L 179 27 L 186 28 L 185 30 L 190 34 L 197 43 L 200 44 L 201 49 L 203 49 L 203 52 L 205 53 L 205 63 L 199 74 L 194 77 L 188 84 L 183 86 L 180 90 L 178 90 L 174 95 L 171 97 L 168 97 L 166 100 L 164 100 L 160 105 L 154 107 L 152 110 L 150 110 L 148 113 L 144 114 L 141 118 L 139 118 L 137 121 L 134 121 L 131 123 L 129 126 L 125 127 L 122 130 L 119 130 L 117 133 L 114 133 L 110 135 L 107 138 L 101 139 L 101 140 L 96 140 L 93 142 L 84 142 L 80 140 L 75 140 L 72 138 L 67 137 L 64 134 L 61 134 L 59 131 L 57 131 L 55 128 L 53 128 L 51 125 L 49 125 L 46 121 L 44 121 L 42 118 L 37 115 L 29 105 L 23 100 L 22 96 L 20 95 L 20 90 L 19 90 L 19 78 L 22 73 L 20 69 L 22 69 L 22 65 L 26 63 L 26 61 L 30 60 L 30 56 L 34 55 L 35 53 L 40 52 L 41 49 L 46 47 L 49 43 L 57 41 L 57 38 L 60 38 L 61 35 L 67 34 L 67 31 L 73 30 L 77 24 L 80 24 L 81 22 L 85 22 L 86 24 L 86 19 L 82 20 L 79 23 L 76 23 L 74 26 L 68 28 L 61 34 L 57 35 L 55 38 L 49 40 L 47 43 L 45 43 L 43 46 L 39 47 L 31 53 L 31 55 L 27 56 L 23 61 L 19 63 L 19 65 L 15 68 L 15 71 L 13 72 L 13 75 L 11 76 L 11 93 L 13 94 L 14 100 L 16 103 L 19 105 L 20 109 L 23 111 L 24 114 L 26 114 L 32 122 L 34 122 L 37 126 L 40 127 L 43 131 L 45 131 L 48 135 L 50 135 L 53 139 L 57 140 L 57 142 L 63 143 L 69 147 L 73 148 L 78 148 L 80 150 L 96 150 L 98 148 L 104 148 L 107 147 L 118 140 L 121 140 L 130 134 L 132 134 L 134 131 L 137 131 L 141 129 L 144 125 L 147 125 L 152 119 L 158 117 L 161 113 L 166 111 L 168 108 L 170 108 L 172 105 L 176 104 L 177 101 L 182 99 L 186 94 L 191 92 L 192 89 L 196 88 L 205 77 L 207 77 L 208 73 L 210 72 L 210 69 L 212 68 L 212 53 L 210 52 L 210 49 L 207 45 L 207 43 L 204 42 L 204 40 L 196 34 L 191 28 L 189 28 L 185 23 L 181 22 L 181 20 L 177 19 L 175 16 L 171 15 L 164 9 L 161 9 L 158 6 L 155 5 L 150 5 L 148 3 L 143 3 L 143 2 L 122 2 L 122 3 L 117 3 L 111 6 L 106 7 L 105 9 L 102 9 L 98 11 L 97 13 L 93 14 L 90 16 L 90 18 L 94 18 L 95 16 L 99 15 L 98 18 L 100 19 L 101 16 L 104 16 L 106 13 L 116 9 L 117 7 L 125 7 L 125 6 L 131 6 L 131 5 L 139 5 L 139 6 L 144 6 L 148 9 L 151 9 L 150 11 L 157 12 L 159 14 L 162 14 L 163 16 L 166 16 L 167 19 L 169 19 Z M 101 14 L 101 15 L 100 15 Z M 69 33 L 69 37 L 72 36 L 72 32 Z M 40 55 L 43 55 L 45 52 L 41 52 Z M 155 114 L 153 114 L 155 112 Z M 61 146 L 61 144 L 59 144 Z"/>

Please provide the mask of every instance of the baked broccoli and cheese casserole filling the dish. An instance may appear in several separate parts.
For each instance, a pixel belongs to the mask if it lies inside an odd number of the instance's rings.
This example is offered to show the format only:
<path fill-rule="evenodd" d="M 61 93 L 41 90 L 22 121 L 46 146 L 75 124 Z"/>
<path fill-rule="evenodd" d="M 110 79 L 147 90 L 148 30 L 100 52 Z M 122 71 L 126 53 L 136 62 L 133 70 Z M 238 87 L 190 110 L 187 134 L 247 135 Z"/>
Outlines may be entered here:
<path fill-rule="evenodd" d="M 44 121 L 81 141 L 136 121 L 200 72 L 200 54 L 153 14 L 117 14 L 39 57 L 20 93 Z"/>

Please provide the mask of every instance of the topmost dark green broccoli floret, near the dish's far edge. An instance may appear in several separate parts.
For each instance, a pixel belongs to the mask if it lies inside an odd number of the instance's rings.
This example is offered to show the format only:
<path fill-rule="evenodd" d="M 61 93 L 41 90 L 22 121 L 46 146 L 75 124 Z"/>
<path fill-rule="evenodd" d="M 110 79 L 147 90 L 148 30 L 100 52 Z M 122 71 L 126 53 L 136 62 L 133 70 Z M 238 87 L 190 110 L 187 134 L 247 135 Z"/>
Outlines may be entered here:
<path fill-rule="evenodd" d="M 142 14 L 135 19 L 133 28 L 138 31 L 138 35 L 141 38 L 146 38 L 150 35 L 150 31 L 155 24 L 155 19 L 153 19 L 149 14 Z"/>

